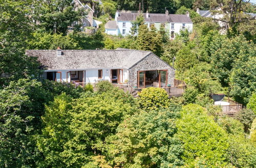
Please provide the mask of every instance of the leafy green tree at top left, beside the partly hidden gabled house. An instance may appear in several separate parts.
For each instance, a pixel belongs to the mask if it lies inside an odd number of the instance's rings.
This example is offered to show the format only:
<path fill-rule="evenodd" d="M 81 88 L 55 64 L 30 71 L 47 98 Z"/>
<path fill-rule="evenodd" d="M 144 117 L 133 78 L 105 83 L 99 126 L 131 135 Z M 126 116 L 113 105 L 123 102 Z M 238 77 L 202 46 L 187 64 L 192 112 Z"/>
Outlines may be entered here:
<path fill-rule="evenodd" d="M 84 9 L 78 9 L 72 0 L 34 2 L 33 18 L 39 22 L 39 29 L 47 32 L 66 35 L 68 27 L 74 22 L 80 21 L 84 15 Z"/>

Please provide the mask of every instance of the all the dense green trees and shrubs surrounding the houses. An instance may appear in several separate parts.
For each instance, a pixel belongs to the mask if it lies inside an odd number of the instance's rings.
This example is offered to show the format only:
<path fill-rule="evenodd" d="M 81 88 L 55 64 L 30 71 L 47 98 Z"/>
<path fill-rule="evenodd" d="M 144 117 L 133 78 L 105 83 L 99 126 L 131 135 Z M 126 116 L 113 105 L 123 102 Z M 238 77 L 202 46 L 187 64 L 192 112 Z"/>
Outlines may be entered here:
<path fill-rule="evenodd" d="M 0 0 L 0 167 L 255 167 L 255 5 L 242 0 L 81 0 L 104 23 L 116 10 L 185 14 L 193 32 L 175 34 L 133 21 L 132 36 L 109 36 L 104 25 L 81 32 L 82 16 L 67 0 Z M 221 7 L 221 11 L 215 10 Z M 218 20 L 195 11 L 229 13 Z M 231 11 L 231 12 L 230 12 Z M 77 87 L 41 78 L 26 49 L 150 50 L 187 83 L 183 97 L 147 88 L 138 98 L 108 81 Z M 234 118 L 220 116 L 210 95 L 242 103 Z M 192 104 L 193 103 L 193 104 Z"/>

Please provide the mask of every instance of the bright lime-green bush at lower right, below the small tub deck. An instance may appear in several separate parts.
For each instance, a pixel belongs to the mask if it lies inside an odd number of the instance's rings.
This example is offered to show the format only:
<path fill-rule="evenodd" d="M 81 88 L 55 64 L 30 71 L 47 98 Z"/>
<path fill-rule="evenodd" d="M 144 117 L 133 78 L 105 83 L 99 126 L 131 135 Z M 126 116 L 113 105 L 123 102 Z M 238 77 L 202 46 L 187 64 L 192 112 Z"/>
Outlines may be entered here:
<path fill-rule="evenodd" d="M 206 167 L 226 165 L 227 133 L 204 108 L 195 104 L 183 106 L 181 119 L 176 124 L 176 136 L 183 142 L 182 158 L 186 166 L 193 167 L 202 160 L 200 164 Z"/>

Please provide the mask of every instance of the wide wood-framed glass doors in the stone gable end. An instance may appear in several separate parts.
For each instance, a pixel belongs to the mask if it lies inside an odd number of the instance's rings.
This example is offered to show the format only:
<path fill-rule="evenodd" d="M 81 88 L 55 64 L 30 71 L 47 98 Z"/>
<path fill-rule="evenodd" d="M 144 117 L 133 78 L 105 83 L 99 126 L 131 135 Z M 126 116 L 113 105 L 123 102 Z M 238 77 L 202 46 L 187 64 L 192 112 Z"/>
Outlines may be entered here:
<path fill-rule="evenodd" d="M 138 87 L 166 87 L 167 70 L 138 71 Z"/>

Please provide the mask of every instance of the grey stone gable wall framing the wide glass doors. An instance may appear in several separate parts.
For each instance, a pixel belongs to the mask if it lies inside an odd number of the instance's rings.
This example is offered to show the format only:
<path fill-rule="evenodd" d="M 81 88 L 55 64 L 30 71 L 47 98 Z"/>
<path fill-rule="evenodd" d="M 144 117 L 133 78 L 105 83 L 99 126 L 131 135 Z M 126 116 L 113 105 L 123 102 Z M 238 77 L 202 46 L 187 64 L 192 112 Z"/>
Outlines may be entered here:
<path fill-rule="evenodd" d="M 174 86 L 175 70 L 167 63 L 157 57 L 157 55 L 151 53 L 144 60 L 137 63 L 134 67 L 129 69 L 129 82 L 131 86 L 137 86 L 138 71 L 149 70 L 168 70 L 167 84 Z"/>

